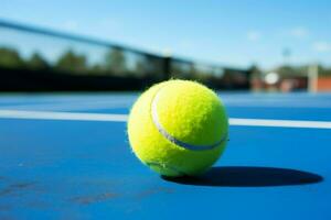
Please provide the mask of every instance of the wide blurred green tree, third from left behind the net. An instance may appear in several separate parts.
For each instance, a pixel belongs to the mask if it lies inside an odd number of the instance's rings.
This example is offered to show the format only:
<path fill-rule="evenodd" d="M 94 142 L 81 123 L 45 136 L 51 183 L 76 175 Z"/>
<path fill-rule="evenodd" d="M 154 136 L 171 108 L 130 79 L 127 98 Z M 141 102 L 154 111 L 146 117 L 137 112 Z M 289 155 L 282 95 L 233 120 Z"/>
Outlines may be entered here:
<path fill-rule="evenodd" d="M 68 50 L 58 58 L 55 68 L 70 73 L 86 73 L 86 57 Z"/>

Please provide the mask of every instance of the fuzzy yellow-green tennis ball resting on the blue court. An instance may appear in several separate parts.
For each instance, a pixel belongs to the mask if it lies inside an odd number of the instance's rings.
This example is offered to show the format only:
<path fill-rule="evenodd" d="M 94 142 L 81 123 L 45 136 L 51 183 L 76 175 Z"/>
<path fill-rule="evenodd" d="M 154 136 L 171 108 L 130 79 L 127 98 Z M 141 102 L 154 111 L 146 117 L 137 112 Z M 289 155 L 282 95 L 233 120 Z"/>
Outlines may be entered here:
<path fill-rule="evenodd" d="M 227 142 L 228 122 L 217 95 L 190 80 L 168 80 L 145 91 L 128 119 L 132 151 L 162 176 L 196 176 Z"/>

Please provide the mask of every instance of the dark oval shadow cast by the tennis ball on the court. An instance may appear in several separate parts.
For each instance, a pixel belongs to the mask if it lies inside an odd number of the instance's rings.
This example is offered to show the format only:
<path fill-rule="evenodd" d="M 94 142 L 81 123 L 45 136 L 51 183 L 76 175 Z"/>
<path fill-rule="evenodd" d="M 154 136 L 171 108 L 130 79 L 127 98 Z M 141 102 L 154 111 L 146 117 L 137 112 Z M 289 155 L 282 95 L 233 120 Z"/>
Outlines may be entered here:
<path fill-rule="evenodd" d="M 323 177 L 303 170 L 276 167 L 225 166 L 212 167 L 199 177 L 166 177 L 163 179 L 183 185 L 215 187 L 267 187 L 317 184 Z"/>

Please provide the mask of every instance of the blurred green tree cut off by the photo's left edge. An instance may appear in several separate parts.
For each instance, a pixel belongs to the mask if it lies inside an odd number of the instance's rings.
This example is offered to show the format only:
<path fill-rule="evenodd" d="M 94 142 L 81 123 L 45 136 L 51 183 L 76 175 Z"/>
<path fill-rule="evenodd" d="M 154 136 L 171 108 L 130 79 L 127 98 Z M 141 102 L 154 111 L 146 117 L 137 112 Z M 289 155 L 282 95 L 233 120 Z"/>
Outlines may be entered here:
<path fill-rule="evenodd" d="M 14 48 L 0 47 L 0 66 L 22 68 L 24 67 L 24 61 Z"/>

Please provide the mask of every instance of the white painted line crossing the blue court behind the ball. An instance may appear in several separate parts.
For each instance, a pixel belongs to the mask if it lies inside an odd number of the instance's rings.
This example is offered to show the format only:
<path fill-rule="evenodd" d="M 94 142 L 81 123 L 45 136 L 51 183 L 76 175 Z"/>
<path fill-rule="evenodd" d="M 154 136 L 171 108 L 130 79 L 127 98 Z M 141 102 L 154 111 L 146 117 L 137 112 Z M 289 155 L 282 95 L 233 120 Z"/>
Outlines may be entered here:
<path fill-rule="evenodd" d="M 128 120 L 128 114 L 0 110 L 0 118 L 2 118 L 2 119 L 34 119 L 34 120 L 39 119 L 39 120 L 126 122 Z M 331 121 L 301 121 L 301 120 L 269 120 L 269 119 L 229 118 L 228 122 L 231 125 L 239 125 L 239 127 L 280 127 L 280 128 L 331 129 Z"/>

